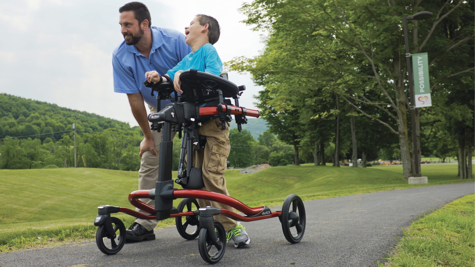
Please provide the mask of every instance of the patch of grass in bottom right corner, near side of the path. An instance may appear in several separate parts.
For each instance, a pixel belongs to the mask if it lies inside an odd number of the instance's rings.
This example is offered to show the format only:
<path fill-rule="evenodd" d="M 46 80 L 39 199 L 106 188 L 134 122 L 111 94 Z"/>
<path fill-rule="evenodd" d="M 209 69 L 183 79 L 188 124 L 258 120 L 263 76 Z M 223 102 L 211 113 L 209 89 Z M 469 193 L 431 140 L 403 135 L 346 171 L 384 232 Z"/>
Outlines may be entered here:
<path fill-rule="evenodd" d="M 475 260 L 475 195 L 455 200 L 418 219 L 380 267 L 466 267 Z"/>

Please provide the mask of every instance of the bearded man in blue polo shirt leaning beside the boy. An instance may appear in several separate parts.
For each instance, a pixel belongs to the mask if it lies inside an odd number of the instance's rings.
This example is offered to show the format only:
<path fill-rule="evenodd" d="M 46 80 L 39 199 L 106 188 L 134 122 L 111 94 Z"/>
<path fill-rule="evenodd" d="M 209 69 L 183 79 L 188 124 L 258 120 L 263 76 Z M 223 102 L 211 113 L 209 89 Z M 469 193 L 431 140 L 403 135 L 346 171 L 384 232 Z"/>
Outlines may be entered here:
<path fill-rule="evenodd" d="M 152 70 L 165 74 L 175 67 L 191 48 L 185 43 L 185 36 L 173 29 L 151 27 L 150 12 L 140 2 L 130 2 L 119 9 L 119 24 L 124 41 L 114 49 L 112 56 L 114 92 L 125 93 L 133 116 L 142 129 L 144 139 L 140 143 L 139 190 L 155 188 L 158 177 L 158 153 L 161 133 L 150 130 L 144 101 L 150 113 L 155 113 L 157 101 L 151 89 L 143 85 L 145 72 Z M 169 104 L 162 101 L 161 106 Z M 171 140 L 176 132 L 172 132 Z M 155 201 L 142 199 L 149 205 Z M 136 209 L 145 213 L 142 210 Z M 127 230 L 127 241 L 153 240 L 153 229 L 157 220 L 137 219 Z"/>

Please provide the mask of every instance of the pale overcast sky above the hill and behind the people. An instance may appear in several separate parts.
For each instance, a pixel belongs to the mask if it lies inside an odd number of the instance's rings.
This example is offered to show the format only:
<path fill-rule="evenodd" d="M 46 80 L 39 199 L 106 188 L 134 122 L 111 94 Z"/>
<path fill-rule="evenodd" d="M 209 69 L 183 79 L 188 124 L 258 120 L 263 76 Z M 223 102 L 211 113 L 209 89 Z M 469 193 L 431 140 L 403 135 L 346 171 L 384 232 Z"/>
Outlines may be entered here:
<path fill-rule="evenodd" d="M 137 125 L 125 94 L 114 93 L 111 55 L 122 41 L 118 9 L 127 0 L 1 0 L 0 93 L 87 111 Z M 198 13 L 218 19 L 215 44 L 222 61 L 253 57 L 262 33 L 239 22 L 241 0 L 144 0 L 152 26 L 184 31 Z M 260 87 L 250 75 L 230 73 L 246 85 L 240 105 L 254 108 Z"/>

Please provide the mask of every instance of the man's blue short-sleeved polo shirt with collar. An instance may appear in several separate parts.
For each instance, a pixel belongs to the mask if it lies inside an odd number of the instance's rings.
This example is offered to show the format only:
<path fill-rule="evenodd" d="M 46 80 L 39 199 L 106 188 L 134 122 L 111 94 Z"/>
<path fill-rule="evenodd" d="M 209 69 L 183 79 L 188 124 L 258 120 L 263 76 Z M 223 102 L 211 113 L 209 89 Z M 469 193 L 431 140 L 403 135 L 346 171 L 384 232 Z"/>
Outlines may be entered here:
<path fill-rule="evenodd" d="M 156 70 L 160 75 L 175 67 L 191 48 L 185 43 L 185 36 L 177 30 L 151 27 L 152 50 L 150 56 L 143 56 L 134 46 L 125 44 L 125 40 L 112 53 L 114 92 L 135 94 L 142 93 L 148 105 L 157 108 L 157 93 L 151 95 L 152 89 L 145 87 L 145 72 Z M 161 107 L 170 101 L 162 101 Z"/>

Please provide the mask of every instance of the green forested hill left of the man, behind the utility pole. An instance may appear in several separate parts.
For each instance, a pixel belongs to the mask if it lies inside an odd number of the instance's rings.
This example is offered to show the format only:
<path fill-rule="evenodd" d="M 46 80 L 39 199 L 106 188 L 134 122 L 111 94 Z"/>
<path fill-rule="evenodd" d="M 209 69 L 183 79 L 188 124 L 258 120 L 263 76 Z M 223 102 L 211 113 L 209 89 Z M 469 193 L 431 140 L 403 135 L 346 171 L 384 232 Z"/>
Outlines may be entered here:
<path fill-rule="evenodd" d="M 97 114 L 0 94 L 0 169 L 74 167 L 138 170 L 139 127 Z"/>

